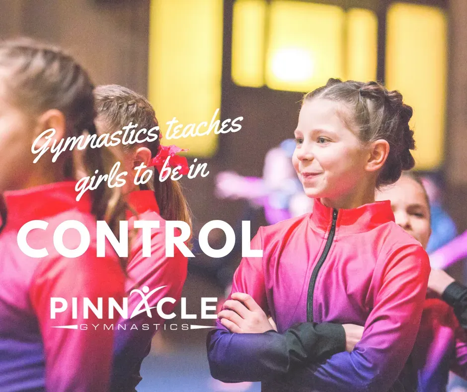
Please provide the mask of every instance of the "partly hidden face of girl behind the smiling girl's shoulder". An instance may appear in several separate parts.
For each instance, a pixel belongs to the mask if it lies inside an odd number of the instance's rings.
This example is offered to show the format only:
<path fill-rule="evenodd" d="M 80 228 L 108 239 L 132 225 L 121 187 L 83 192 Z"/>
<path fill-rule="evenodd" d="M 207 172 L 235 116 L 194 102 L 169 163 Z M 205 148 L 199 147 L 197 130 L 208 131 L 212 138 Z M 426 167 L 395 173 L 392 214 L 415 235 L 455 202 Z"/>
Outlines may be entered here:
<path fill-rule="evenodd" d="M 403 176 L 394 185 L 377 192 L 376 199 L 390 200 L 395 223 L 426 248 L 431 234 L 430 208 L 420 184 Z"/>

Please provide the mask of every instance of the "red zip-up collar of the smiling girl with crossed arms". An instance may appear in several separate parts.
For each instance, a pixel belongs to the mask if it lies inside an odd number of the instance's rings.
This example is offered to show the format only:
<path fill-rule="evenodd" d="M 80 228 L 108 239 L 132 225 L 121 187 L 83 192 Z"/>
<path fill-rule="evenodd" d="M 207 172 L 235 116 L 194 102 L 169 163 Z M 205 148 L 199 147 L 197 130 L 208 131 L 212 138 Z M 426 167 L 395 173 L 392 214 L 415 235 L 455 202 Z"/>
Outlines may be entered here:
<path fill-rule="evenodd" d="M 329 232 L 332 223 L 333 208 L 324 206 L 319 199 L 314 199 L 310 225 L 321 232 Z M 337 212 L 336 235 L 356 234 L 370 231 L 375 227 L 394 221 L 389 200 L 376 201 L 352 209 L 339 209 Z"/>

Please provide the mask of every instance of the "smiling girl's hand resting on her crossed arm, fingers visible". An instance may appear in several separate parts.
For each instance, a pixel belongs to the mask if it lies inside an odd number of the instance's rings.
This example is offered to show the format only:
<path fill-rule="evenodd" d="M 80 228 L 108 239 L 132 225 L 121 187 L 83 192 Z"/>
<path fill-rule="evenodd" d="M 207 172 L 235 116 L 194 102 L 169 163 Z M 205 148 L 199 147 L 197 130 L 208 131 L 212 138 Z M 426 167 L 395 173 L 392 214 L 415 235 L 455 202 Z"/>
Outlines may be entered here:
<path fill-rule="evenodd" d="M 233 333 L 263 333 L 275 329 L 251 295 L 233 293 L 218 314 L 221 324 Z"/>

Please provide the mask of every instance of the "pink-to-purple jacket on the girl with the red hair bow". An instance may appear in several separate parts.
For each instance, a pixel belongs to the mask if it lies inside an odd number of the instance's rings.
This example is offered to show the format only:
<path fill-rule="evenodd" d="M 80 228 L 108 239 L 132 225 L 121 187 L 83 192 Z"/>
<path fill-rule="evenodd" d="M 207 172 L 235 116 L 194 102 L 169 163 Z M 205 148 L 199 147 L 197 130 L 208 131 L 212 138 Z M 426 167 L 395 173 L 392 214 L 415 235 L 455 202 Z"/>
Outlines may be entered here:
<path fill-rule="evenodd" d="M 165 220 L 159 215 L 159 207 L 153 191 L 135 191 L 128 196 L 128 204 L 136 216 L 128 213 L 129 228 L 133 229 L 135 220 L 157 220 L 159 228 L 152 230 L 151 257 L 143 256 L 143 235 L 139 233 L 131 246 L 127 263 L 128 278 L 125 289 L 128 296 L 129 314 L 135 310 L 141 301 L 141 296 L 131 294 L 134 289 L 147 286 L 149 290 L 157 290 L 148 299 L 150 307 L 156 307 L 157 302 L 164 297 L 171 297 L 175 303 L 166 302 L 162 306 L 165 314 L 170 314 L 178 304 L 183 284 L 185 283 L 188 259 L 177 247 L 174 247 L 173 257 L 165 256 Z M 146 312 L 131 319 L 120 319 L 116 327 L 112 371 L 112 391 L 134 391 L 141 381 L 141 364 L 149 354 L 151 340 L 156 332 L 162 329 L 165 319 L 156 310 L 152 317 Z"/>

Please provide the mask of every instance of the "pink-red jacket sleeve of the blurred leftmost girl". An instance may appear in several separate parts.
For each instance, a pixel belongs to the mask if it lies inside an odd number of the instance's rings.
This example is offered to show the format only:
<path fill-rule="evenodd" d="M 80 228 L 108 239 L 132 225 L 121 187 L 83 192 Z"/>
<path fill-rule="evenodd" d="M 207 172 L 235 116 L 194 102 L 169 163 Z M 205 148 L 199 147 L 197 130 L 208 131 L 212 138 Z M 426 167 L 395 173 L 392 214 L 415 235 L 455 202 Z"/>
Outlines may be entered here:
<path fill-rule="evenodd" d="M 107 391 L 112 363 L 113 332 L 103 324 L 113 324 L 107 315 L 93 312 L 84 318 L 72 317 L 72 310 L 50 317 L 51 297 L 114 298 L 122 303 L 124 275 L 116 257 L 97 258 L 95 248 L 84 255 L 67 259 L 49 258 L 35 272 L 30 288 L 30 300 L 37 314 L 44 343 L 46 391 L 89 392 Z M 57 326 L 76 325 L 75 329 Z M 82 329 L 81 325 L 86 325 Z M 95 325 L 96 327 L 92 327 Z"/>

